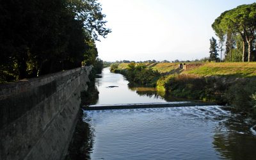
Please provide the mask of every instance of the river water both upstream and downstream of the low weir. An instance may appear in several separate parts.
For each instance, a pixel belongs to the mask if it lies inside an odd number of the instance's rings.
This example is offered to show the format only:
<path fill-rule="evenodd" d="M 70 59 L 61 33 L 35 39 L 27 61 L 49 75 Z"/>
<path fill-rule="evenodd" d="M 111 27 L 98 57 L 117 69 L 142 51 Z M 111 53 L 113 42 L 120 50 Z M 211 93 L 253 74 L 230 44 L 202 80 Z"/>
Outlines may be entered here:
<path fill-rule="evenodd" d="M 108 68 L 95 84 L 97 104 L 166 102 Z M 84 111 L 83 120 L 91 159 L 256 159 L 255 122 L 223 106 Z"/>

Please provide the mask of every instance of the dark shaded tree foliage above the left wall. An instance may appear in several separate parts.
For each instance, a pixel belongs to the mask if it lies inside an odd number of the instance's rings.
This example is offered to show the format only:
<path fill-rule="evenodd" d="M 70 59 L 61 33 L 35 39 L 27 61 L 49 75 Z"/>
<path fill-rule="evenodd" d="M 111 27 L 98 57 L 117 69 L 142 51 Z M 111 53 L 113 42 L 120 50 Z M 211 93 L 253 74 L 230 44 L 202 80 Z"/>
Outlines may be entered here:
<path fill-rule="evenodd" d="M 97 0 L 2 0 L 0 82 L 95 63 L 95 40 L 105 37 Z"/>

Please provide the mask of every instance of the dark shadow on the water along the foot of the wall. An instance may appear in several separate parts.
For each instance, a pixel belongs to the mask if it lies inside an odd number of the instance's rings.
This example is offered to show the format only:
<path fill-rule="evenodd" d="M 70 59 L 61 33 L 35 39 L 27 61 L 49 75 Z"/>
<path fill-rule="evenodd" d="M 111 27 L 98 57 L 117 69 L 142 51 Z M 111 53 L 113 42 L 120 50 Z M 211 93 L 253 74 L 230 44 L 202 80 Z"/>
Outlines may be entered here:
<path fill-rule="evenodd" d="M 90 83 L 87 92 L 81 93 L 81 106 L 96 104 L 98 99 L 99 92 L 95 83 Z M 84 117 L 86 117 L 86 115 L 84 115 L 83 109 L 80 109 L 76 129 L 68 147 L 68 154 L 65 160 L 91 159 L 90 153 L 92 152 L 95 134 L 93 127 L 84 122 Z"/>

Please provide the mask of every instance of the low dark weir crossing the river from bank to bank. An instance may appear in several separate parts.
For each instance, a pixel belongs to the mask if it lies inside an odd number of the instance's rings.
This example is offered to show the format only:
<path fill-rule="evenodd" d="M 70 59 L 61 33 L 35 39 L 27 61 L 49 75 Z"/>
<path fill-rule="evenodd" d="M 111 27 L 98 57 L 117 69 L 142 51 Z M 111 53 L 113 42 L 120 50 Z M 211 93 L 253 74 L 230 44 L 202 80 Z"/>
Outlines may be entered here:
<path fill-rule="evenodd" d="M 162 102 L 162 103 L 140 103 L 140 104 L 111 104 L 83 106 L 84 110 L 106 110 L 106 109 L 138 109 L 138 108 L 173 108 L 189 106 L 216 106 L 210 102 Z"/>

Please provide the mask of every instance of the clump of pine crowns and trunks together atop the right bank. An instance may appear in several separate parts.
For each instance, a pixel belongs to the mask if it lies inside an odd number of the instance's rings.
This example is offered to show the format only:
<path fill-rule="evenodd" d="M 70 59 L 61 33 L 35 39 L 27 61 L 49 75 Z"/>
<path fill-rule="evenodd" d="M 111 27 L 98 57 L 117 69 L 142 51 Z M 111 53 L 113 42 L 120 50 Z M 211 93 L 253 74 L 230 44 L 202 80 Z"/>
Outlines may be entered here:
<path fill-rule="evenodd" d="M 221 44 L 226 40 L 226 61 L 256 61 L 256 3 L 221 13 L 212 28 Z"/>

